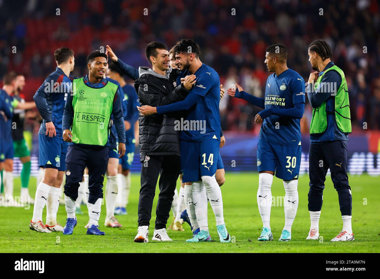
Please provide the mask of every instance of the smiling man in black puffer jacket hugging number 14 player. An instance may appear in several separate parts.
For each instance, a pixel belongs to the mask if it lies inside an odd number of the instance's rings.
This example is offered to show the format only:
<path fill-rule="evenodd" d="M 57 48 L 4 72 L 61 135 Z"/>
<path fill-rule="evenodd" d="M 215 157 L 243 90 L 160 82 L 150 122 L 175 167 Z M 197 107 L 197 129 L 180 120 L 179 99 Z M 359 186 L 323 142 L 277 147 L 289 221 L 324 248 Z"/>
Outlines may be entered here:
<path fill-rule="evenodd" d="M 140 67 L 135 89 L 141 106 L 164 106 L 186 98 L 195 76 L 188 76 L 176 86 L 178 69 L 169 67 L 169 52 L 165 44 L 149 43 L 146 57 L 152 68 Z M 171 241 L 166 233 L 173 192 L 180 172 L 179 131 L 174 129 L 177 115 L 139 115 L 141 189 L 138 205 L 138 233 L 135 242 L 148 242 L 148 227 L 158 182 L 160 194 L 156 208 L 152 240 Z"/>

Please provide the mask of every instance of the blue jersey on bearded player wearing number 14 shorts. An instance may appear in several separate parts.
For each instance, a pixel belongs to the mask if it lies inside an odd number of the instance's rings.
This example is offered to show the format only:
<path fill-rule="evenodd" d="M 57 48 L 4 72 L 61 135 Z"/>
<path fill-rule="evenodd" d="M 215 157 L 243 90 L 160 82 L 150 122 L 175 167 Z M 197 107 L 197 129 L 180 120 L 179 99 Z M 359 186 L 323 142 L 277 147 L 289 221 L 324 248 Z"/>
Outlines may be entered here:
<path fill-rule="evenodd" d="M 196 82 L 191 91 L 203 98 L 188 110 L 183 125 L 184 127 L 188 125 L 189 129 L 181 131 L 181 139 L 188 142 L 201 142 L 212 138 L 220 140 L 219 75 L 204 63 L 194 74 Z M 188 70 L 181 72 L 177 77 L 177 84 L 181 84 L 181 77 L 188 75 L 190 75 Z"/>

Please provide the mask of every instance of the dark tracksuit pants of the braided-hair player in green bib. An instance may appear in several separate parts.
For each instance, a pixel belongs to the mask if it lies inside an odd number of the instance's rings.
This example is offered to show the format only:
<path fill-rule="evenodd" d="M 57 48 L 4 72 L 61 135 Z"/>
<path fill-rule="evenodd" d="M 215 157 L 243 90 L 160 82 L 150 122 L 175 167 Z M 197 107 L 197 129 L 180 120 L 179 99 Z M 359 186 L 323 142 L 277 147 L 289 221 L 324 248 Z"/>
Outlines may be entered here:
<path fill-rule="evenodd" d="M 338 192 L 340 213 L 351 215 L 352 196 L 347 175 L 347 140 L 331 142 L 310 142 L 309 151 L 309 211 L 322 208 L 323 189 L 327 170 L 330 169 L 331 180 Z"/>

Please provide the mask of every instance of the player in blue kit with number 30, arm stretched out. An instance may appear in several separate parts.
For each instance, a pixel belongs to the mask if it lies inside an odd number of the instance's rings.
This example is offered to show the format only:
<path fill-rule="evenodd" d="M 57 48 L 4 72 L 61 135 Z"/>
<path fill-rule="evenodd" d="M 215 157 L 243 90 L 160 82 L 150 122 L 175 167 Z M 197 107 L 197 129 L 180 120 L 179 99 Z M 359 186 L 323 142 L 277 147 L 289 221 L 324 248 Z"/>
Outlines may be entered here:
<path fill-rule="evenodd" d="M 304 79 L 287 66 L 288 51 L 282 44 L 266 49 L 265 64 L 271 74 L 264 98 L 252 96 L 236 84 L 227 93 L 261 107 L 255 123 L 261 125 L 257 145 L 259 187 L 257 204 L 263 221 L 259 241 L 273 240 L 269 224 L 272 204 L 271 186 L 274 172 L 285 188 L 285 226 L 279 241 L 291 240 L 291 225 L 298 208 L 298 173 L 301 164 L 300 119 L 305 108 Z"/>

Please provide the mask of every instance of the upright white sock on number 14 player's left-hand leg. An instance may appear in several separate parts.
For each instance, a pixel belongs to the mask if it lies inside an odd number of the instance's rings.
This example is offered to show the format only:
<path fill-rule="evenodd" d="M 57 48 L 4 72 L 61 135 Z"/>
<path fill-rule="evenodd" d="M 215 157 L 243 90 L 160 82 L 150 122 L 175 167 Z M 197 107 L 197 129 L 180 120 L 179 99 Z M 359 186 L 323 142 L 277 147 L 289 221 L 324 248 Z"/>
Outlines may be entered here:
<path fill-rule="evenodd" d="M 195 208 L 196 220 L 200 230 L 209 230 L 207 223 L 207 199 L 206 187 L 202 181 L 192 183 L 193 186 L 193 205 Z"/>

